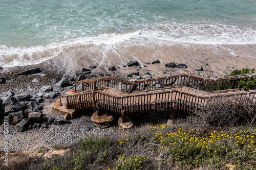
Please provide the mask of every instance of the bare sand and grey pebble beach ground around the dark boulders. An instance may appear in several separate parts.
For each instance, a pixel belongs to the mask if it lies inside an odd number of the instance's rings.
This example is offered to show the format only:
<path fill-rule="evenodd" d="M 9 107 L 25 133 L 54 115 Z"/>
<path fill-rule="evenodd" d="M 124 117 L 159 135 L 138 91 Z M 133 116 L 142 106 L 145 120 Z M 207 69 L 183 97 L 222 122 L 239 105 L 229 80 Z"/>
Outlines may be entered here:
<path fill-rule="evenodd" d="M 192 58 L 193 59 L 193 58 Z M 192 60 L 191 59 L 191 60 Z M 150 59 L 144 60 L 144 62 L 148 61 Z M 153 60 L 153 59 L 152 59 Z M 189 63 L 189 61 L 184 61 L 185 58 L 181 59 L 180 63 Z M 182 69 L 182 68 L 168 68 L 165 67 L 164 64 L 174 61 L 174 59 L 166 59 L 162 60 L 159 64 L 145 64 L 145 67 L 139 67 L 139 66 L 132 66 L 130 68 L 118 68 L 116 71 L 110 71 L 107 68 L 110 66 L 101 66 L 97 67 L 92 70 L 92 74 L 98 76 L 98 74 L 105 75 L 106 73 L 109 73 L 113 77 L 118 77 L 120 79 L 130 80 L 134 79 L 137 76 L 133 76 L 132 78 L 127 78 L 127 75 L 132 72 L 139 72 L 140 76 L 144 76 L 145 72 L 150 72 L 152 74 L 152 77 L 162 77 L 166 75 L 173 75 L 173 74 L 181 74 L 183 72 L 189 73 L 189 74 L 202 74 L 204 71 L 195 71 L 196 68 L 202 66 L 204 69 L 206 68 L 205 64 L 208 63 L 211 66 L 211 69 L 214 70 L 214 76 L 224 76 L 225 74 L 228 74 L 233 69 L 241 69 L 247 66 L 252 66 L 254 63 L 256 63 L 256 59 L 253 58 L 239 58 L 237 56 L 231 56 L 230 58 L 224 58 L 224 57 L 218 57 L 218 60 L 214 62 L 205 62 L 201 64 L 195 64 L 197 63 L 195 61 L 191 61 L 190 64 L 187 64 L 188 68 Z M 150 62 L 150 61 L 149 61 Z M 221 64 L 221 62 L 225 62 L 224 64 Z M 230 67 L 229 65 L 234 63 L 240 62 L 240 64 L 237 65 L 237 67 Z M 56 63 L 58 63 L 56 65 Z M 177 63 L 176 64 L 180 64 Z M 80 71 L 81 69 L 79 67 L 89 68 L 90 65 L 86 66 L 79 66 L 77 67 L 77 70 L 71 70 L 69 67 L 63 66 L 65 62 L 61 60 L 61 56 L 55 57 L 51 60 L 42 62 L 40 64 L 36 65 L 29 65 L 29 66 L 16 66 L 12 68 L 4 68 L 3 70 L 0 70 L 0 77 L 5 77 L 7 79 L 7 83 L 0 84 L 0 95 L 3 93 L 6 93 L 7 91 L 11 90 L 15 94 L 22 94 L 22 93 L 28 93 L 28 94 L 36 94 L 38 93 L 38 90 L 45 85 L 51 85 L 53 86 L 56 84 L 55 82 L 52 82 L 52 79 L 55 78 L 61 78 L 64 76 L 73 76 L 76 77 L 76 71 Z M 114 65 L 113 65 L 114 66 Z M 30 76 L 18 76 L 17 72 L 22 70 L 31 69 L 34 67 L 39 67 L 41 69 L 40 74 L 36 75 L 30 75 Z M 250 67 L 252 68 L 252 67 Z M 39 78 L 41 81 L 39 83 L 32 83 L 31 81 L 34 78 Z M 12 80 L 10 82 L 10 80 Z M 64 91 L 61 92 L 61 94 L 66 93 L 68 90 L 72 89 L 73 86 L 68 86 L 65 88 Z M 63 115 L 59 114 L 51 114 L 50 108 L 51 105 L 56 101 L 57 99 L 44 99 L 44 102 L 42 102 L 40 105 L 43 107 L 42 112 L 44 115 L 53 117 L 56 119 L 63 119 Z M 155 113 L 152 113 L 155 114 Z M 157 114 L 157 113 L 156 113 Z M 160 113 L 158 113 L 160 115 Z M 67 145 L 71 142 L 78 141 L 81 138 L 85 138 L 94 134 L 117 134 L 121 135 L 121 131 L 118 130 L 118 126 L 115 123 L 113 126 L 107 129 L 99 129 L 93 125 L 91 122 L 90 115 L 92 115 L 91 112 L 86 113 L 78 118 L 72 119 L 71 124 L 63 125 L 63 126 L 54 126 L 49 125 L 48 129 L 44 128 L 36 128 L 32 130 L 28 130 L 25 132 L 18 132 L 14 126 L 9 126 L 9 145 L 10 150 L 13 151 L 34 151 L 35 148 L 38 148 L 38 145 L 42 145 L 47 149 L 52 149 L 54 145 Z M 161 116 L 160 116 L 161 117 Z M 154 118 L 152 115 L 151 118 Z M 157 120 L 155 120 L 157 121 Z M 117 122 L 117 120 L 116 120 Z M 136 122 L 137 125 L 139 123 L 145 123 L 148 122 L 147 119 L 142 119 L 142 122 Z M 1 133 L 0 136 L 3 136 L 3 125 L 1 127 Z M 1 137 L 1 141 L 3 138 Z M 1 142 L 3 144 L 3 142 Z M 1 148 L 3 148 L 1 144 Z"/>

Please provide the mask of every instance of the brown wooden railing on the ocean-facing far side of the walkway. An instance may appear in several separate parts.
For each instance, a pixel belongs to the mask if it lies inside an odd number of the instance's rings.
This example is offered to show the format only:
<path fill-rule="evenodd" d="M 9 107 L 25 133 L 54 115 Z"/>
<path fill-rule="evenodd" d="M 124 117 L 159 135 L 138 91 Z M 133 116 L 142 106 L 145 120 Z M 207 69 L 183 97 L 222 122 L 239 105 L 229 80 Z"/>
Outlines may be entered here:
<path fill-rule="evenodd" d="M 114 77 L 103 77 L 77 82 L 82 85 L 82 91 L 98 88 L 111 87 L 127 92 L 159 89 L 166 87 L 187 86 L 204 91 L 215 91 L 238 88 L 241 80 L 255 79 L 256 74 L 221 77 L 207 79 L 195 75 L 179 74 L 160 78 L 142 79 L 136 81 L 125 81 Z"/>

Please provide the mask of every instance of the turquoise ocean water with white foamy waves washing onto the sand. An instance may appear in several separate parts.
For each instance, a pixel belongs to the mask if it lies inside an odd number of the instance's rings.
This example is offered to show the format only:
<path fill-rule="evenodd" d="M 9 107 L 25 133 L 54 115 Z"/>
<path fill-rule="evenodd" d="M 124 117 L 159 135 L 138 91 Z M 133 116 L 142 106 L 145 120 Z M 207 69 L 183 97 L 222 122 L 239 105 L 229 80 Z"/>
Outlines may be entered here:
<path fill-rule="evenodd" d="M 0 66 L 58 55 L 119 66 L 163 60 L 168 49 L 256 58 L 255 9 L 254 0 L 1 1 Z"/>

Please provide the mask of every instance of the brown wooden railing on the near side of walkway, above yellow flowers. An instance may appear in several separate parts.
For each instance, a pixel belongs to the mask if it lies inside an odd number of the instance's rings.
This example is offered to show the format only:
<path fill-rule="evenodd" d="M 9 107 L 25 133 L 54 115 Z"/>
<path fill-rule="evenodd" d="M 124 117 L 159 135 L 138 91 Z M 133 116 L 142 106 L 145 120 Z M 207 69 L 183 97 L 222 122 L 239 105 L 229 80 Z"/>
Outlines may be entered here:
<path fill-rule="evenodd" d="M 69 109 L 90 109 L 100 104 L 105 110 L 120 113 L 143 112 L 152 109 L 172 109 L 179 106 L 180 110 L 191 111 L 204 107 L 211 102 L 220 100 L 225 96 L 232 98 L 234 102 L 243 101 L 243 104 L 255 109 L 256 90 L 240 91 L 222 94 L 201 95 L 176 88 L 166 88 L 135 92 L 125 95 L 113 95 L 101 90 L 90 90 L 74 94 L 61 95 L 67 99 Z M 243 99 L 243 100 L 242 100 Z"/>

